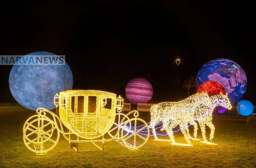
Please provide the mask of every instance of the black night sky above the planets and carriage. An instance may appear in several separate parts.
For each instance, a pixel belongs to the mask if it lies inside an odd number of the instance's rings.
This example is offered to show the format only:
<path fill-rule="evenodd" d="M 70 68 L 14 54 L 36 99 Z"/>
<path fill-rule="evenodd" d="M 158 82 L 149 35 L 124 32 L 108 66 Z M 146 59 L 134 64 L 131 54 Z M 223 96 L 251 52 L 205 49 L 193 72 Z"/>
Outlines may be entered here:
<path fill-rule="evenodd" d="M 22 1 L 2 7 L 0 55 L 35 51 L 65 55 L 73 89 L 99 89 L 125 97 L 126 84 L 142 77 L 153 86 L 152 100 L 175 101 L 176 58 L 181 58 L 179 82 L 195 76 L 206 62 L 226 58 L 246 72 L 248 87 L 242 99 L 256 103 L 255 12 L 245 1 Z M 11 67 L 0 66 L 2 95 L 10 94 Z M 185 98 L 187 90 L 179 90 L 180 98 Z"/>

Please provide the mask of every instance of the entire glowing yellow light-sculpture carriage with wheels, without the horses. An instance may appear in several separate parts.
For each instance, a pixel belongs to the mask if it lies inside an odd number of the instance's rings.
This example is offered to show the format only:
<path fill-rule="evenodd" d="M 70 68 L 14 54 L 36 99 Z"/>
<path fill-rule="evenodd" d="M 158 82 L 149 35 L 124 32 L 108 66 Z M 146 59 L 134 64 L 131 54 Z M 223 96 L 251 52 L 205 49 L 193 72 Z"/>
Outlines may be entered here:
<path fill-rule="evenodd" d="M 23 126 L 23 140 L 28 149 L 37 155 L 53 149 L 60 137 L 78 150 L 81 142 L 91 142 L 97 150 L 103 143 L 115 139 L 128 149 L 138 149 L 149 138 L 149 126 L 138 117 L 138 111 L 121 113 L 123 98 L 98 90 L 68 90 L 56 94 L 54 104 L 59 106 L 59 116 L 38 108 L 37 115 L 27 119 Z M 117 113 L 116 113 L 117 109 Z M 133 114 L 134 118 L 129 116 Z M 108 133 L 109 136 L 104 138 Z M 106 136 L 105 136 L 106 137 Z M 97 144 L 96 144 L 97 143 Z M 100 145 L 98 145 L 100 143 Z"/>

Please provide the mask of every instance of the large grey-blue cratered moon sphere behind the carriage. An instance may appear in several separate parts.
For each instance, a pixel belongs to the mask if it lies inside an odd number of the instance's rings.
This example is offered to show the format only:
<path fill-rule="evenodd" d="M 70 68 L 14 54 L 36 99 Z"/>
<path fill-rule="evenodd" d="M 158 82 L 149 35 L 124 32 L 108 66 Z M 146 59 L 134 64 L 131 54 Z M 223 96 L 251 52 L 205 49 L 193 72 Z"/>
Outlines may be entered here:
<path fill-rule="evenodd" d="M 56 57 L 57 55 L 38 51 L 23 57 L 28 56 Z M 66 62 L 65 65 L 18 65 L 16 63 L 9 74 L 9 88 L 15 100 L 29 110 L 36 110 L 39 107 L 47 110 L 55 109 L 54 96 L 73 87 L 73 74 Z"/>

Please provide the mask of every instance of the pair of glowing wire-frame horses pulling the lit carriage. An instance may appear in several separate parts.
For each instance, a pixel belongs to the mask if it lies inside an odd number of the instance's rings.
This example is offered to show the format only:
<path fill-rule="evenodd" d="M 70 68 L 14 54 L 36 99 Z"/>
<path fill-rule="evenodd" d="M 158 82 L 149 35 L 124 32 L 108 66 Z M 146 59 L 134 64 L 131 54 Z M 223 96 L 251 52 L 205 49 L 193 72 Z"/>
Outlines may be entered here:
<path fill-rule="evenodd" d="M 156 136 L 155 126 L 163 122 L 161 131 L 165 130 L 170 137 L 170 141 L 173 145 L 185 145 L 176 143 L 173 136 L 173 129 L 179 125 L 181 132 L 183 133 L 187 145 L 192 146 L 190 142 L 191 136 L 189 135 L 188 124 L 194 125 L 194 136 L 197 134 L 197 123 L 202 129 L 202 135 L 205 141 L 205 125 L 208 125 L 211 129 L 210 140 L 213 138 L 214 125 L 212 124 L 212 111 L 216 106 L 222 106 L 227 109 L 231 109 L 230 100 L 226 95 L 220 93 L 209 97 L 207 92 L 194 94 L 184 100 L 178 102 L 162 102 L 151 106 L 151 122 L 149 127 L 152 128 L 155 140 L 158 140 Z"/>

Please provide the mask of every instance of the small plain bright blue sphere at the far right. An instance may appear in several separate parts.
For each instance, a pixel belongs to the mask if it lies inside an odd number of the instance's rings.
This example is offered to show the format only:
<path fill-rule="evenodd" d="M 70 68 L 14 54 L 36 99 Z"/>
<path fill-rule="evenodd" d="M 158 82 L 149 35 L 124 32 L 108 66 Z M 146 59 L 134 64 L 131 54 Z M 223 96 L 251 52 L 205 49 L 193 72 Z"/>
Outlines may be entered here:
<path fill-rule="evenodd" d="M 248 100 L 241 100 L 238 102 L 238 106 L 236 106 L 236 111 L 239 112 L 240 115 L 250 115 L 253 112 L 253 104 Z"/>

